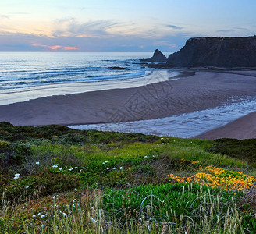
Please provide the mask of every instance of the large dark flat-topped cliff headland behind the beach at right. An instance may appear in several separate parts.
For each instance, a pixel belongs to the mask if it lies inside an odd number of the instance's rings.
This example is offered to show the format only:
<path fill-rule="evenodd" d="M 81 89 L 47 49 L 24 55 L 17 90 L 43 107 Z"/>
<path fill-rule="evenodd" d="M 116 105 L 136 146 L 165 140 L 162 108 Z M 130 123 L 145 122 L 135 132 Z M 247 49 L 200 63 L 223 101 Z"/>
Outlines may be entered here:
<path fill-rule="evenodd" d="M 167 66 L 256 67 L 256 36 L 194 37 L 169 55 Z"/>

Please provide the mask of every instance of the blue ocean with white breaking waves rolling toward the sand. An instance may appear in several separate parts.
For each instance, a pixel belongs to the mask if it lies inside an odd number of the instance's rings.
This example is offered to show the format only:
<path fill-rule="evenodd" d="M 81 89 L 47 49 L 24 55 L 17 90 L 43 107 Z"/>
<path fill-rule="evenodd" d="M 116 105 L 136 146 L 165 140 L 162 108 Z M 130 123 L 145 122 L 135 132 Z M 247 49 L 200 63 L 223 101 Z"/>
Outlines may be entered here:
<path fill-rule="evenodd" d="M 151 56 L 151 52 L 0 52 L 0 105 L 141 86 L 145 82 L 141 78 L 152 69 L 141 68 L 139 59 Z"/>

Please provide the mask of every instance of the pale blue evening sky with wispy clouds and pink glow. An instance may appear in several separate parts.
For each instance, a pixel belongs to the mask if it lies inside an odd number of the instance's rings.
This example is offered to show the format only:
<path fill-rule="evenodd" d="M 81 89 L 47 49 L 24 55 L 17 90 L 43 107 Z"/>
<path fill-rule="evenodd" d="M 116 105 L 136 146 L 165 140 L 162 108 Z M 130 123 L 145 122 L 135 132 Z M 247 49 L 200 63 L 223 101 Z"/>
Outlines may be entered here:
<path fill-rule="evenodd" d="M 255 0 L 0 0 L 0 51 L 179 51 L 254 36 Z"/>

